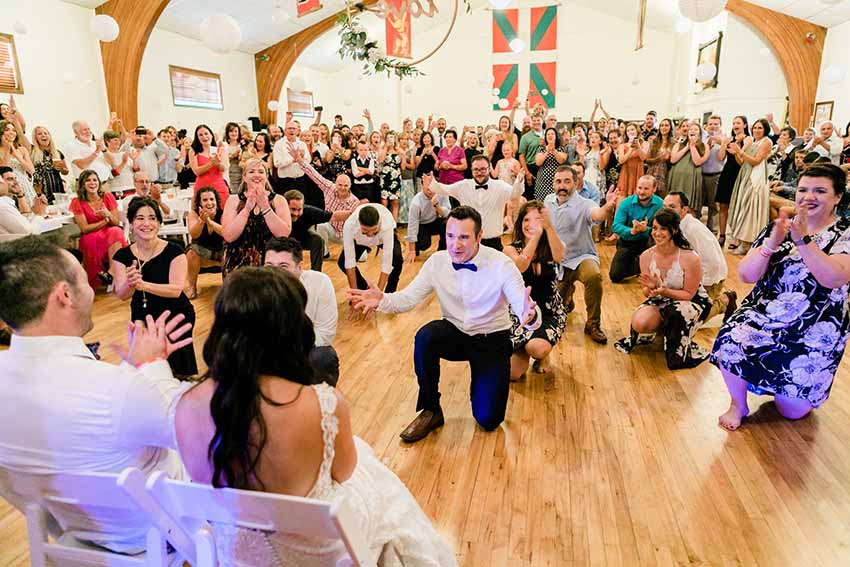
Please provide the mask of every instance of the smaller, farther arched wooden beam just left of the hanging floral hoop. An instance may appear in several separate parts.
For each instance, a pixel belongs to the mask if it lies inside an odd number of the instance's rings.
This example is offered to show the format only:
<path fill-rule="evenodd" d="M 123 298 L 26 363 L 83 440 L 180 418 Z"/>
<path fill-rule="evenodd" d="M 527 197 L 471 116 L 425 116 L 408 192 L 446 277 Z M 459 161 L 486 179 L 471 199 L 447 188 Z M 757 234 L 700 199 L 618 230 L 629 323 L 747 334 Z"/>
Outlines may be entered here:
<path fill-rule="evenodd" d="M 340 12 L 341 13 L 341 12 Z M 260 120 L 264 124 L 274 124 L 277 112 L 268 108 L 270 100 L 277 100 L 283 88 L 283 82 L 298 57 L 316 38 L 334 27 L 339 13 L 291 35 L 254 55 L 254 68 L 257 76 L 257 100 L 260 104 Z M 285 101 L 280 103 L 286 106 Z"/>

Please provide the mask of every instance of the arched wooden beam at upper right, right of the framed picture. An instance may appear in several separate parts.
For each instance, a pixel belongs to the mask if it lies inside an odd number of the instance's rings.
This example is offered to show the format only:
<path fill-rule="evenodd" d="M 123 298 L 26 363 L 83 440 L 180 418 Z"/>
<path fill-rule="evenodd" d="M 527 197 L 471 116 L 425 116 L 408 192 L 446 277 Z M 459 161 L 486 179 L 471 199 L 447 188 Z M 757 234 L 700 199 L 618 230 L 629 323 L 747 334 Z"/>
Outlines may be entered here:
<path fill-rule="evenodd" d="M 798 130 L 806 128 L 815 107 L 826 28 L 743 0 L 729 0 L 726 9 L 770 43 L 788 83 L 788 121 Z M 808 33 L 814 40 L 806 39 Z"/>

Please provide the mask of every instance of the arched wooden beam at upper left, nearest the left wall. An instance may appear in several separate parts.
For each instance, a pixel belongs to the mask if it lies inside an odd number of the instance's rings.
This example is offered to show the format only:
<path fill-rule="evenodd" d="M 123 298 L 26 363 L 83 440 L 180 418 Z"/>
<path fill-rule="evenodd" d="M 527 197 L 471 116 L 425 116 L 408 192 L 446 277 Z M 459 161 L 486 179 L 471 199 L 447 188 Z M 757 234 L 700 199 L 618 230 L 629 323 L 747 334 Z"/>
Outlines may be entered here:
<path fill-rule="evenodd" d="M 109 0 L 96 8 L 98 14 L 115 18 L 118 39 L 100 42 L 103 75 L 109 109 L 118 114 L 125 127 L 139 120 L 139 72 L 151 32 L 169 0 Z"/>

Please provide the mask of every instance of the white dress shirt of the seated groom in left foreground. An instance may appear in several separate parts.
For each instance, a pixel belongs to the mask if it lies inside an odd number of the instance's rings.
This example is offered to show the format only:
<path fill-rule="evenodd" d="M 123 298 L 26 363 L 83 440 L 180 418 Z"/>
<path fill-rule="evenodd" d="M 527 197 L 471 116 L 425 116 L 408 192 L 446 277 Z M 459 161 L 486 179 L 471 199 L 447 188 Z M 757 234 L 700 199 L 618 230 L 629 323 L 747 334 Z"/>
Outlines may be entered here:
<path fill-rule="evenodd" d="M 137 370 L 97 361 L 80 337 L 12 335 L 0 352 L 0 466 L 32 474 L 138 467 L 187 478 L 169 423 L 182 389 L 166 361 Z M 143 549 L 150 522 L 121 518 L 99 518 L 99 542 Z"/>

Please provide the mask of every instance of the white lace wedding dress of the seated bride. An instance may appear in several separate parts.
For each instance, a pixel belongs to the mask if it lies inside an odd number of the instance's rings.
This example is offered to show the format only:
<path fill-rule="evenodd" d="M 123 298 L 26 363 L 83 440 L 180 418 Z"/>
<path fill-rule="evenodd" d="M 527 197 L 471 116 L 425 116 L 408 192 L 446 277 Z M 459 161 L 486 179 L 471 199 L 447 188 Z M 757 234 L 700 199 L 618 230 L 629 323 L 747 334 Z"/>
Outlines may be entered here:
<path fill-rule="evenodd" d="M 344 483 L 331 478 L 339 430 L 337 399 L 327 384 L 313 388 L 322 410 L 324 454 L 316 484 L 307 498 L 345 498 L 381 567 L 456 567 L 452 550 L 434 530 L 413 495 L 363 440 L 354 438 L 357 468 L 351 478 Z M 341 542 L 224 525 L 214 525 L 214 531 L 222 567 L 333 567 L 345 554 Z"/>

